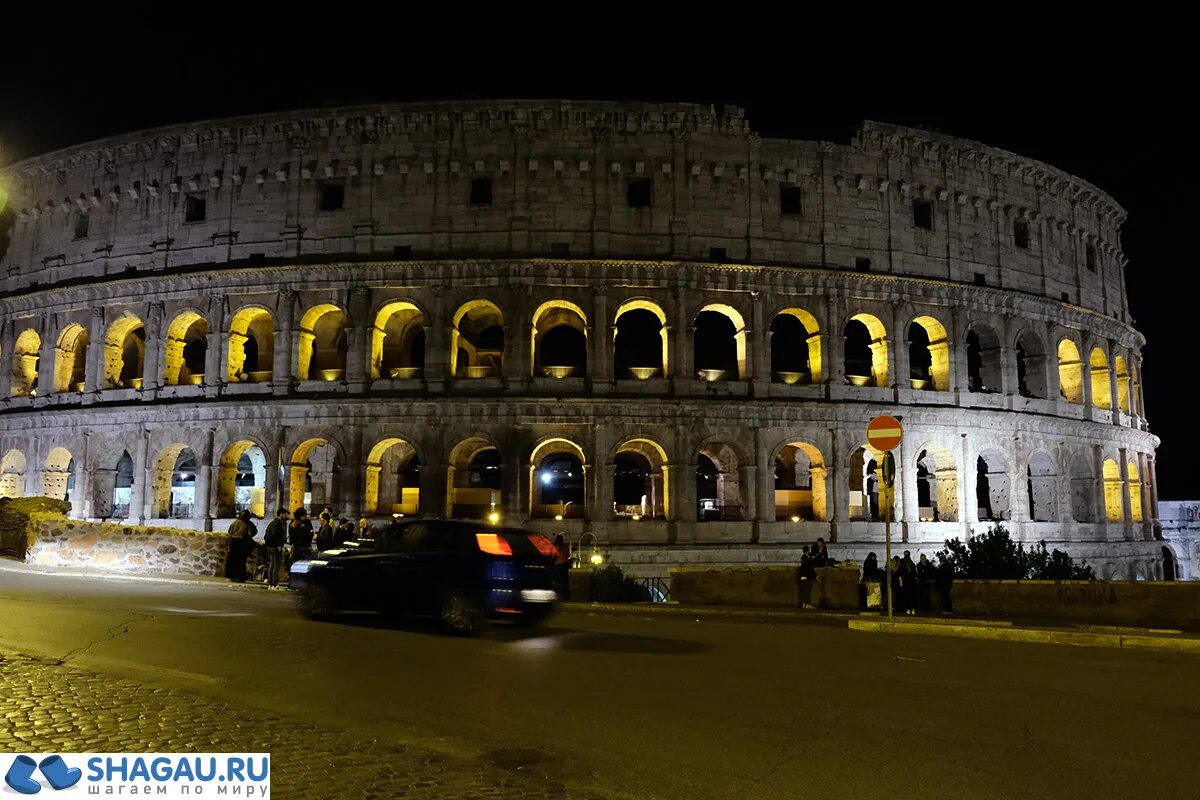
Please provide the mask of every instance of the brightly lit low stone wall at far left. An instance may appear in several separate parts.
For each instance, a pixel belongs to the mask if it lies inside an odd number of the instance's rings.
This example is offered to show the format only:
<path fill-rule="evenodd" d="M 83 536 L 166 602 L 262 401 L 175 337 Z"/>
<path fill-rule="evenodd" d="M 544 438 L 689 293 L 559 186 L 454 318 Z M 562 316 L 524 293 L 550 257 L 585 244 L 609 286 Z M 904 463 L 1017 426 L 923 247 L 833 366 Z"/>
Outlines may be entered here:
<path fill-rule="evenodd" d="M 83 522 L 44 512 L 29 516 L 28 535 L 25 563 L 40 566 L 222 576 L 229 552 L 226 534 Z"/>

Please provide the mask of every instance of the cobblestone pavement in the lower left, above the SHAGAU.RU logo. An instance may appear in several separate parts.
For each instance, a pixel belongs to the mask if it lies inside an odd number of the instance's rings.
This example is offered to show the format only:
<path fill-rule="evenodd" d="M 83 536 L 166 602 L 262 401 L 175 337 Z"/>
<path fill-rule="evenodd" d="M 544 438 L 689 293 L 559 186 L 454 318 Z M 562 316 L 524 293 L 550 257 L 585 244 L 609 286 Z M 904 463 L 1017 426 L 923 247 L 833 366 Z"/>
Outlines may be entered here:
<path fill-rule="evenodd" d="M 600 800 L 541 751 L 466 759 L 19 655 L 0 654 L 0 717 L 8 752 L 269 752 L 283 799 Z"/>

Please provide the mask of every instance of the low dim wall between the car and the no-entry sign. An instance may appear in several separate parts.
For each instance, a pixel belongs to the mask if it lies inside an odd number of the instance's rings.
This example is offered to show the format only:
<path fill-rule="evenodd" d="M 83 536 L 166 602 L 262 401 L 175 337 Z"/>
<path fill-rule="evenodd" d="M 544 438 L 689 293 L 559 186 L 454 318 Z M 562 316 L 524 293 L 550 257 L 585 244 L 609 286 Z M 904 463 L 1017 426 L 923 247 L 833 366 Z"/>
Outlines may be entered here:
<path fill-rule="evenodd" d="M 818 608 L 858 608 L 858 570 L 817 570 L 809 602 Z M 698 606 L 776 606 L 803 602 L 796 567 L 671 570 L 671 599 Z"/>

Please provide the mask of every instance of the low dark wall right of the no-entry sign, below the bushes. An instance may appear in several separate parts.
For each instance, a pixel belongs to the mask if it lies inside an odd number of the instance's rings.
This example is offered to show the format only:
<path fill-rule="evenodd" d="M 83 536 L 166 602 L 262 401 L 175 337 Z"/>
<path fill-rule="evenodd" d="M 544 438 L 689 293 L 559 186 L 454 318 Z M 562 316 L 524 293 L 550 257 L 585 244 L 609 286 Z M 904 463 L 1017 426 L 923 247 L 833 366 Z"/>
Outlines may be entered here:
<path fill-rule="evenodd" d="M 1200 628 L 1200 583 L 955 581 L 954 613 L 1103 625 Z"/>

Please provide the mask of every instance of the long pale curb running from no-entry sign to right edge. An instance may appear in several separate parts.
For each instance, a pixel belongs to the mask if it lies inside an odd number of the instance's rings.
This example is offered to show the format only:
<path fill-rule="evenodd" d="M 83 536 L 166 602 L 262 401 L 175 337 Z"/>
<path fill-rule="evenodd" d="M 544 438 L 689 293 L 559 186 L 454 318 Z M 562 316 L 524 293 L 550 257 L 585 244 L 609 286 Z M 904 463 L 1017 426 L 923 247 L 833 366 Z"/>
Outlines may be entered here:
<path fill-rule="evenodd" d="M 1147 636 L 1136 633 L 1092 633 L 1087 631 L 1055 631 L 1046 628 L 1008 627 L 996 625 L 964 625 L 929 622 L 887 622 L 883 620 L 852 619 L 846 627 L 866 633 L 912 633 L 949 636 L 967 639 L 1000 642 L 1031 642 L 1034 644 L 1069 644 L 1078 648 L 1117 648 L 1121 650 L 1162 650 L 1200 655 L 1200 638 L 1177 636 Z"/>

